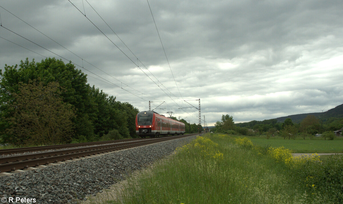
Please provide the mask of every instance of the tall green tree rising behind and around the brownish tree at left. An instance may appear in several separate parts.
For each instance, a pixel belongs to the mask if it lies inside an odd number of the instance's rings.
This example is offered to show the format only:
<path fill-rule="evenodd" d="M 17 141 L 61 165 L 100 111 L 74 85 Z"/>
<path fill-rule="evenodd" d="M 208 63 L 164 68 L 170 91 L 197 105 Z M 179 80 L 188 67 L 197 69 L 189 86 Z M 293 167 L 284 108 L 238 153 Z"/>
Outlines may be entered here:
<path fill-rule="evenodd" d="M 0 82 L 0 106 L 3 110 L 1 118 L 8 118 L 11 115 L 8 112 L 8 105 L 13 101 L 10 93 L 18 93 L 19 82 L 28 84 L 29 80 L 42 81 L 44 85 L 49 82 L 58 82 L 64 91 L 61 93 L 63 102 L 71 104 L 75 111 L 76 117 L 72 119 L 75 124 L 75 134 L 73 137 L 84 137 L 91 140 L 94 135 L 93 121 L 96 117 L 96 107 L 93 98 L 90 95 L 90 86 L 86 84 L 87 75 L 80 70 L 75 69 L 72 63 L 64 64 L 62 60 L 55 58 L 46 58 L 39 63 L 21 61 L 18 65 L 5 65 L 4 72 L 1 73 Z M 4 128 L 10 128 L 8 122 L 0 119 Z"/>

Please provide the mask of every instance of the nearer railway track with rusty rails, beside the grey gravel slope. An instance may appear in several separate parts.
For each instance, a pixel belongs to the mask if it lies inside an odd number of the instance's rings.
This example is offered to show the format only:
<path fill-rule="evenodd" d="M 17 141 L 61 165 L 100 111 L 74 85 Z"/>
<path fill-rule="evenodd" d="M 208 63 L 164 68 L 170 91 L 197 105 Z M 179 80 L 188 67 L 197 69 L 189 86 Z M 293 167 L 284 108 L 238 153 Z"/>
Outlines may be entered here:
<path fill-rule="evenodd" d="M 163 138 L 157 138 L 157 139 L 152 138 L 150 140 L 142 141 L 142 142 L 129 142 L 130 144 L 120 143 L 117 146 L 110 146 L 107 148 L 92 149 L 92 150 L 82 151 L 82 152 L 74 152 L 74 153 L 69 153 L 69 154 L 61 154 L 61 155 L 47 156 L 47 157 L 42 157 L 42 158 L 34 158 L 31 160 L 3 163 L 3 164 L 0 164 L 0 172 L 7 172 L 7 171 L 16 170 L 16 169 L 23 169 L 23 168 L 35 167 L 35 166 L 49 164 L 49 163 L 72 160 L 74 158 L 80 158 L 80 157 L 85 157 L 85 156 L 90 156 L 90 155 L 95 155 L 95 154 L 101 154 L 101 153 L 105 153 L 105 152 L 111 152 L 111 151 L 117 151 L 117 150 L 132 148 L 135 146 L 141 146 L 141 145 L 152 144 L 152 143 L 157 143 L 157 142 L 162 142 L 162 141 L 167 141 L 167 140 L 189 137 L 192 135 L 197 135 L 197 134 L 181 135 L 181 136 L 173 136 L 173 137 L 163 137 Z"/>

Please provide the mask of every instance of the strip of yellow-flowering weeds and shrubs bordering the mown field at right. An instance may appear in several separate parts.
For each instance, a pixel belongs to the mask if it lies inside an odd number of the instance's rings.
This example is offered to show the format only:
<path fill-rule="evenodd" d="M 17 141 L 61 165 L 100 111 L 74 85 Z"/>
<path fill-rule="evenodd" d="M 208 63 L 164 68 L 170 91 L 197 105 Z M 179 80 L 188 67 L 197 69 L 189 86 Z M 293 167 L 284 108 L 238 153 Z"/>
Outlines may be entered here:
<path fill-rule="evenodd" d="M 237 144 L 256 151 L 260 155 L 267 155 L 276 163 L 286 165 L 291 175 L 291 181 L 310 192 L 316 201 L 319 197 L 325 203 L 343 203 L 343 156 L 330 155 L 324 161 L 314 153 L 311 155 L 292 156 L 292 150 L 283 146 L 257 146 L 250 139 L 235 138 Z"/>

